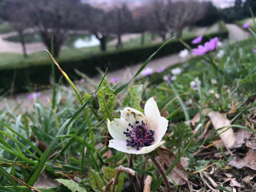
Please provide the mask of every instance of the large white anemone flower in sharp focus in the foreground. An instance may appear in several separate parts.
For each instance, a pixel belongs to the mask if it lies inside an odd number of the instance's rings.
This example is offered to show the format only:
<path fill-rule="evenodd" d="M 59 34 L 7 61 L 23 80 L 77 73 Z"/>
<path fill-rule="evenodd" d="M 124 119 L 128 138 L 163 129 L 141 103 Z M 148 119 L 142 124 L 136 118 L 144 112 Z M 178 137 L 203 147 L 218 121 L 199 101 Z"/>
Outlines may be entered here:
<path fill-rule="evenodd" d="M 160 115 L 156 101 L 151 97 L 145 104 L 145 115 L 127 107 L 120 119 L 108 120 L 108 132 L 113 137 L 108 147 L 130 154 L 146 154 L 164 144 L 161 141 L 168 120 Z"/>

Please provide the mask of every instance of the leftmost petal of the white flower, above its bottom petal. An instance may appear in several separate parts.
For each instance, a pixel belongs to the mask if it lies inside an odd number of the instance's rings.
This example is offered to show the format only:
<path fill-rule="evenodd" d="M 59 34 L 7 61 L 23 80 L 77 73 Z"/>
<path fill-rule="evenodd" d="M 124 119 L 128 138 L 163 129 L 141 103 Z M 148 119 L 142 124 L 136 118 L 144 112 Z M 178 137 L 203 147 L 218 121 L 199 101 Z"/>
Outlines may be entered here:
<path fill-rule="evenodd" d="M 115 121 L 108 120 L 108 132 L 114 139 L 125 141 L 127 137 L 125 136 L 124 132 L 126 132 L 128 125 L 124 127 L 121 119 L 115 118 L 114 120 Z"/>

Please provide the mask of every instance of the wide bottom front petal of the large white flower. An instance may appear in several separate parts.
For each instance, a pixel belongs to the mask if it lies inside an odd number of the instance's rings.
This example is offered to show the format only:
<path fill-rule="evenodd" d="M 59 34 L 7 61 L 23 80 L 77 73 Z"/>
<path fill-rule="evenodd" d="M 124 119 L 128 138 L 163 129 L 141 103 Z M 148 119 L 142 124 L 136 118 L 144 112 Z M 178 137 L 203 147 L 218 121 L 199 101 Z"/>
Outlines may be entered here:
<path fill-rule="evenodd" d="M 148 147 L 143 147 L 143 148 L 140 148 L 140 150 L 137 150 L 135 147 L 126 146 L 125 141 L 112 139 L 112 140 L 109 140 L 108 147 L 115 148 L 116 150 L 122 151 L 124 153 L 139 155 L 139 154 L 149 153 L 149 152 L 155 150 L 156 148 L 160 147 L 164 143 L 165 143 L 165 141 L 162 141 L 162 142 L 156 143 L 154 145 L 150 145 Z"/>

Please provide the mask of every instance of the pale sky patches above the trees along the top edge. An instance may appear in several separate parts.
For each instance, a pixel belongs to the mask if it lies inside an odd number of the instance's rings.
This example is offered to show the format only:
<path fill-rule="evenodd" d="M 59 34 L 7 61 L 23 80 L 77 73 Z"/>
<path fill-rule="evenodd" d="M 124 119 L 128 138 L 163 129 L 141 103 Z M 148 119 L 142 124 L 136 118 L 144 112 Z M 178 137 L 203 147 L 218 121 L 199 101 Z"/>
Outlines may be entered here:
<path fill-rule="evenodd" d="M 145 2 L 146 0 L 121 0 L 121 1 L 130 2 L 136 6 L 136 5 L 143 4 L 143 2 Z M 200 0 L 200 1 L 204 1 L 204 0 Z M 235 3 L 235 0 L 211 0 L 211 1 L 215 6 L 219 8 L 230 7 L 230 6 L 233 6 Z M 93 4 L 93 5 L 109 5 L 109 4 L 113 4 L 115 0 L 82 0 L 82 2 Z"/>

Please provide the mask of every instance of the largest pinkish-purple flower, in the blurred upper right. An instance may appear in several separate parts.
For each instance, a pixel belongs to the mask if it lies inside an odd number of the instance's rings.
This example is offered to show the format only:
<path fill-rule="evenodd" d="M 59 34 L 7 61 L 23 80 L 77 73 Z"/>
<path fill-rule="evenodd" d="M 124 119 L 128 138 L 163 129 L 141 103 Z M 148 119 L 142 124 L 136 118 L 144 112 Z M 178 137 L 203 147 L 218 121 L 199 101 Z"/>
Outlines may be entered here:
<path fill-rule="evenodd" d="M 203 45 L 198 45 L 197 49 L 192 49 L 192 55 L 204 55 L 207 52 L 214 51 L 218 47 L 219 38 L 214 37 Z"/>

